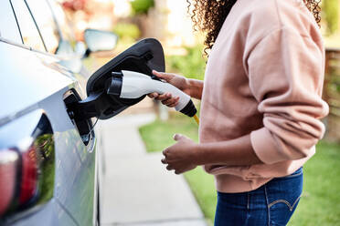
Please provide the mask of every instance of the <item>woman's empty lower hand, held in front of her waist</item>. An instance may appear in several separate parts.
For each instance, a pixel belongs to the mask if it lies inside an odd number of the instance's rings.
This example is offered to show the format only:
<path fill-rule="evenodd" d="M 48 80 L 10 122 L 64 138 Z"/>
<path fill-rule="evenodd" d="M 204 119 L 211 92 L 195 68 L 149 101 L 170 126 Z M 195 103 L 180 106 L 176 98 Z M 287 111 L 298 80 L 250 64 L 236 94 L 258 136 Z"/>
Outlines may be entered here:
<path fill-rule="evenodd" d="M 175 174 L 194 170 L 197 167 L 194 163 L 197 144 L 180 134 L 175 134 L 174 139 L 177 142 L 163 151 L 165 159 L 162 163 L 167 164 L 166 170 L 175 170 Z"/>

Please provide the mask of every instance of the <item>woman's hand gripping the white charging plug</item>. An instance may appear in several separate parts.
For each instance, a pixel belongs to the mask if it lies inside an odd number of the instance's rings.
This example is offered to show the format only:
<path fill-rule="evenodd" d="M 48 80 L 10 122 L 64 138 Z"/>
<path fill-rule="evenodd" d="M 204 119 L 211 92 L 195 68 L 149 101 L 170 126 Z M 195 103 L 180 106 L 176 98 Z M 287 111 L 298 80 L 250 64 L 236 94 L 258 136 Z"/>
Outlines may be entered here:
<path fill-rule="evenodd" d="M 174 87 L 185 92 L 187 95 L 190 96 L 190 87 L 187 83 L 186 77 L 182 77 L 175 74 L 163 73 L 153 70 L 153 74 L 156 77 L 159 77 L 165 82 L 170 83 Z M 158 93 L 151 93 L 148 95 L 150 98 L 154 98 L 156 100 L 162 101 L 162 104 L 166 105 L 169 108 L 174 108 L 178 104 L 179 97 L 173 97 L 171 93 L 165 94 L 158 94 Z"/>

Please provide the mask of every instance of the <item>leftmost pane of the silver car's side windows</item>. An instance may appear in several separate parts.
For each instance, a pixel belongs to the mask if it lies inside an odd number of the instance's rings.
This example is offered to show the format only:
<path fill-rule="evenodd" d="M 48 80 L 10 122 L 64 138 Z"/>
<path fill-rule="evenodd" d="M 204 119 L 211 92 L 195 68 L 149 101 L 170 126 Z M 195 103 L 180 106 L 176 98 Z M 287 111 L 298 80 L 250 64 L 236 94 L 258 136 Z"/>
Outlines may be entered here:
<path fill-rule="evenodd" d="M 16 16 L 9 1 L 1 1 L 0 36 L 16 43 L 21 43 L 21 36 L 16 25 Z"/>

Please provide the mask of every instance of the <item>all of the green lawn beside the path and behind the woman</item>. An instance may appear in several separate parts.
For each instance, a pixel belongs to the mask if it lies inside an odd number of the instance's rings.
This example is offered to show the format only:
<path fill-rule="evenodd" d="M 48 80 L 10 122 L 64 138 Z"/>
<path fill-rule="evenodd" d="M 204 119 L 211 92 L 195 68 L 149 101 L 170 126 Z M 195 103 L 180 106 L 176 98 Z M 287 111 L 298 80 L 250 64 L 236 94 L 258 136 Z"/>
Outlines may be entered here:
<path fill-rule="evenodd" d="M 175 113 L 167 122 L 154 121 L 140 128 L 148 151 L 161 151 L 175 143 L 175 133 L 197 141 L 194 119 Z M 320 142 L 313 159 L 304 166 L 303 198 L 289 225 L 340 225 L 340 145 Z M 185 174 L 207 221 L 215 215 L 214 180 L 200 167 Z"/>

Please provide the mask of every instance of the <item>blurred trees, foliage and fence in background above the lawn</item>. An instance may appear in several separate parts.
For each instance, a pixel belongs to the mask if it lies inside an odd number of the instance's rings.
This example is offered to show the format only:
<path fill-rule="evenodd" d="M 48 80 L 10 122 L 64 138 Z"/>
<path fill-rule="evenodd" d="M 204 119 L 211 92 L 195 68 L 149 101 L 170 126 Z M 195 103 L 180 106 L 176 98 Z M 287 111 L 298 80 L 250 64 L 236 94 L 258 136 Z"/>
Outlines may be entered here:
<path fill-rule="evenodd" d="M 83 41 L 87 28 L 112 31 L 119 36 L 113 51 L 93 54 L 86 60 L 94 71 L 113 56 L 144 37 L 155 37 L 165 48 L 166 71 L 186 77 L 204 78 L 204 34 L 194 31 L 184 0 L 59 0 L 66 10 L 77 41 Z M 327 49 L 324 99 L 331 114 L 326 139 L 340 142 L 339 48 L 340 0 L 322 1 L 322 33 Z"/>

